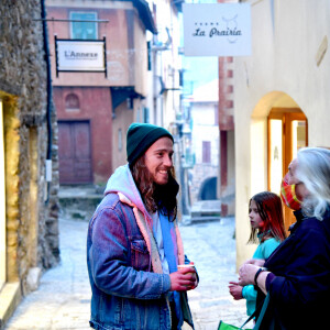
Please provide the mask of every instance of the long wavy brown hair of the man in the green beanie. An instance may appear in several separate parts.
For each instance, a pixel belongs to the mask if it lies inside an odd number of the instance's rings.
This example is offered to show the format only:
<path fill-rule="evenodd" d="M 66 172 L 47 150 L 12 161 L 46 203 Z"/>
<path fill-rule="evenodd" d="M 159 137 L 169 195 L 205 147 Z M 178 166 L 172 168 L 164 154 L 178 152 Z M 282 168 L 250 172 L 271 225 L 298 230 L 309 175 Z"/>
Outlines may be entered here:
<path fill-rule="evenodd" d="M 130 167 L 146 210 L 151 213 L 158 210 L 168 217 L 169 221 L 174 221 L 177 216 L 176 195 L 179 189 L 175 179 L 174 167 L 168 172 L 168 183 L 166 185 L 157 185 L 154 182 L 145 166 L 144 155 Z"/>

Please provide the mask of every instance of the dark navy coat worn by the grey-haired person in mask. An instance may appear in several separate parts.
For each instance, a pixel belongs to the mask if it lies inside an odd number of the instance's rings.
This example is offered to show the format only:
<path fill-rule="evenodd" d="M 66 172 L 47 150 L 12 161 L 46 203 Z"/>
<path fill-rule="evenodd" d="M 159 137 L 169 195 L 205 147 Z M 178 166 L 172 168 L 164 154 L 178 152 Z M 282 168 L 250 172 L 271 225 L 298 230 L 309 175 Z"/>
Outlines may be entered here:
<path fill-rule="evenodd" d="M 330 209 L 322 221 L 300 211 L 295 216 L 290 235 L 265 263 L 276 276 L 267 284 L 271 300 L 260 329 L 326 329 L 329 323 Z"/>

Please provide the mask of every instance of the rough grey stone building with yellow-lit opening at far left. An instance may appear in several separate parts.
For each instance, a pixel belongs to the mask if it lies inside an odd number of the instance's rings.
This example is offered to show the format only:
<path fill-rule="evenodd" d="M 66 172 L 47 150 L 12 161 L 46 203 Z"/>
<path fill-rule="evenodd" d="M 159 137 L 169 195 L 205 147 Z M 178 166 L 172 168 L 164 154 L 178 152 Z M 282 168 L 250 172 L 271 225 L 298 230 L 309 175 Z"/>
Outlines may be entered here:
<path fill-rule="evenodd" d="M 40 0 L 0 6 L 0 329 L 59 261 L 57 127 L 43 13 Z"/>

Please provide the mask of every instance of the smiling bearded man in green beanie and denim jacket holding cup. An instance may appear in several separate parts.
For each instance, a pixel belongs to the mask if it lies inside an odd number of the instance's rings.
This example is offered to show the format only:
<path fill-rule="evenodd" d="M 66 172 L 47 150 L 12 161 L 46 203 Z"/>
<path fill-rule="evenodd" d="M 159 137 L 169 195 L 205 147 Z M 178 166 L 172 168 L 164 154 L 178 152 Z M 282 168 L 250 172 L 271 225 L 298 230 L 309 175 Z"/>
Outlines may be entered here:
<path fill-rule="evenodd" d="M 94 329 L 193 328 L 187 290 L 197 287 L 177 227 L 173 136 L 132 123 L 128 164 L 110 177 L 88 228 Z"/>

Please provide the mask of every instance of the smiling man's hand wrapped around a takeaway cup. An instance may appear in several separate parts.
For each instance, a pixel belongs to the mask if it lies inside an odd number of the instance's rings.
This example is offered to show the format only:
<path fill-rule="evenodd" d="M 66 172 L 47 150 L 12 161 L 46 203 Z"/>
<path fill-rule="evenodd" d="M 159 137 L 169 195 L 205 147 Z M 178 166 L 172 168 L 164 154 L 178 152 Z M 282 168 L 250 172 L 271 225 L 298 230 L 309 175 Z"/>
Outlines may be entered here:
<path fill-rule="evenodd" d="M 170 290 L 172 292 L 186 292 L 197 287 L 197 276 L 194 267 L 178 270 L 169 274 Z"/>

